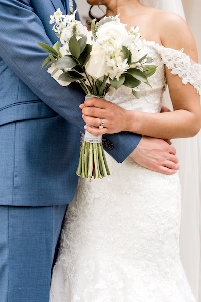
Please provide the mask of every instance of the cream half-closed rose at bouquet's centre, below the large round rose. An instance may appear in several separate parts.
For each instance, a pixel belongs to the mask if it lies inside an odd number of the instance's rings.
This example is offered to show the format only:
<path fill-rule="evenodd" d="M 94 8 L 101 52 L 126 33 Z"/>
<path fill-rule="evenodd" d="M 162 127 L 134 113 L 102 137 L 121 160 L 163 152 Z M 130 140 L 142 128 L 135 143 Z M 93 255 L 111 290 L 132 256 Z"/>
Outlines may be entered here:
<path fill-rule="evenodd" d="M 86 64 L 86 72 L 96 79 L 107 75 L 105 52 L 96 43 L 93 44 L 91 57 Z"/>

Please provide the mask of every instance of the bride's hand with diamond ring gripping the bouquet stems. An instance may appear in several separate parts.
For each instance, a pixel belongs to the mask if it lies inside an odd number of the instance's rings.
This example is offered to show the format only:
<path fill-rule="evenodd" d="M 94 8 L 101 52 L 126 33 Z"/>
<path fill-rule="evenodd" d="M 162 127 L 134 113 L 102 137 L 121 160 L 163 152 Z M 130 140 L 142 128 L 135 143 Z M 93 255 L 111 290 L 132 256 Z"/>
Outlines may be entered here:
<path fill-rule="evenodd" d="M 94 107 L 93 107 L 94 106 Z M 92 128 L 84 126 L 88 132 L 94 135 L 105 133 L 118 133 L 126 131 L 126 114 L 125 110 L 116 104 L 99 98 L 89 98 L 80 105 L 82 109 L 82 117 L 85 123 L 99 127 L 101 124 L 100 118 L 104 120 L 104 128 Z"/>

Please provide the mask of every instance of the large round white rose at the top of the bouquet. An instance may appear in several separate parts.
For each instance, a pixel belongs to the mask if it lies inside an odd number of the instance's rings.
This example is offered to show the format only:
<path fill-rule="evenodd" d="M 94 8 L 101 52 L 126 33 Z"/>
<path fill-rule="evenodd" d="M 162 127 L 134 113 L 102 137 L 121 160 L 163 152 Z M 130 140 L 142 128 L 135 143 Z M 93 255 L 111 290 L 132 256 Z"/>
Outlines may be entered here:
<path fill-rule="evenodd" d="M 121 24 L 117 21 L 110 21 L 100 26 L 97 31 L 98 38 L 105 36 L 115 39 L 118 44 L 122 45 L 128 38 L 128 32 L 125 29 L 124 24 Z"/>

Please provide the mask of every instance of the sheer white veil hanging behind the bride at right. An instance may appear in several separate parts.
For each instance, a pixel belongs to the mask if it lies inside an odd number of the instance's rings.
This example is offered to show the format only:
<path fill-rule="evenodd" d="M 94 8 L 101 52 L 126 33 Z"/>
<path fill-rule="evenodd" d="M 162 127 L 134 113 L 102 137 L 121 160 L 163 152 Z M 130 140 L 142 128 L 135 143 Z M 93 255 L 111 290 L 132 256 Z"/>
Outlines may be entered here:
<path fill-rule="evenodd" d="M 176 13 L 185 19 L 181 0 L 140 0 L 140 2 Z M 164 95 L 164 104 L 172 109 L 168 89 Z M 181 261 L 196 301 L 201 302 L 201 132 L 193 138 L 172 140 L 172 143 L 177 150 L 180 164 Z"/>

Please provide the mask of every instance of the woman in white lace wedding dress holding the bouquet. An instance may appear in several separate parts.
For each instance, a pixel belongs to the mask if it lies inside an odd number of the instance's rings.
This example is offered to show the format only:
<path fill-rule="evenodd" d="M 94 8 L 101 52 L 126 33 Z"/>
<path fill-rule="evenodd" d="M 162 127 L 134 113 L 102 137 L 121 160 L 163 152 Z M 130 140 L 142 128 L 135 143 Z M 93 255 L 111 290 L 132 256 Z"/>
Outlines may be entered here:
<path fill-rule="evenodd" d="M 91 5 L 98 2 L 88 0 Z M 121 89 L 107 101 L 86 100 L 84 121 L 98 127 L 100 118 L 104 120 L 103 129 L 87 130 L 130 131 L 163 139 L 194 136 L 200 129 L 201 69 L 185 21 L 154 8 L 151 0 L 152 7 L 139 0 L 103 4 L 107 16 L 121 12 L 127 29 L 139 26 L 142 49 L 158 68 L 149 78 L 152 88 L 141 84 L 139 100 Z M 174 111 L 154 114 L 160 112 L 166 83 Z M 80 178 L 68 207 L 50 301 L 195 301 L 179 257 L 178 173 L 165 175 L 130 157 L 120 164 L 106 156 L 111 176 L 92 183 Z"/>

